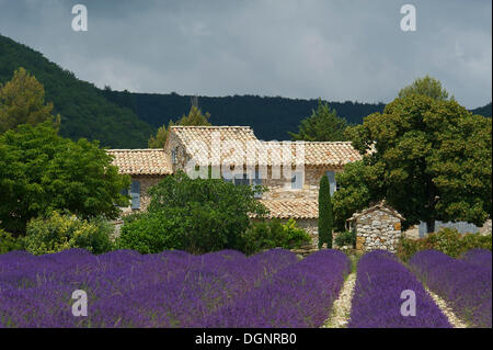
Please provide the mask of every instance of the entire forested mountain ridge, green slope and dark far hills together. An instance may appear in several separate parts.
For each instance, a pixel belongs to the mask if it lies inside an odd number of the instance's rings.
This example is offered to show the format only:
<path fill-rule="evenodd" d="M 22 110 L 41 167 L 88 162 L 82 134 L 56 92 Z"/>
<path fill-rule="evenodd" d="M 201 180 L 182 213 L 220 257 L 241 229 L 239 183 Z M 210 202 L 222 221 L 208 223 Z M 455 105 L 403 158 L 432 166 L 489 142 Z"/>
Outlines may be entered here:
<path fill-rule="evenodd" d="M 46 59 L 43 54 L 0 35 L 0 83 L 24 67 L 45 87 L 46 101 L 61 115 L 61 135 L 78 139 L 99 139 L 111 148 L 146 148 L 156 129 L 188 113 L 192 95 L 177 93 L 133 93 L 99 89 L 79 80 L 72 72 Z M 318 100 L 280 97 L 232 95 L 198 97 L 203 112 L 210 113 L 214 125 L 249 125 L 265 140 L 289 139 L 305 117 L 311 115 Z M 359 124 L 383 103 L 329 102 L 348 123 Z M 491 103 L 472 110 L 491 116 Z"/>

